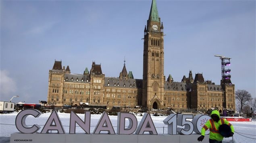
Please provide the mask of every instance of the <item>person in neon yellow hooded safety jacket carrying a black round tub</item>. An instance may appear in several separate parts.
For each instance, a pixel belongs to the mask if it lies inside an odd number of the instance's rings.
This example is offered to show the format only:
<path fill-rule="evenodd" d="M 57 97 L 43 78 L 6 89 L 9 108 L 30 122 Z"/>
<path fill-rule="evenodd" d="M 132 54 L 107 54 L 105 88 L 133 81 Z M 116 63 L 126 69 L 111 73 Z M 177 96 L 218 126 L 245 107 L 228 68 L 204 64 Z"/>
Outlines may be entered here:
<path fill-rule="evenodd" d="M 204 134 L 207 129 L 210 129 L 210 136 L 209 136 L 209 143 L 222 143 L 223 136 L 219 133 L 219 127 L 222 124 L 227 124 L 231 128 L 230 133 L 228 134 L 227 137 L 232 137 L 234 134 L 234 127 L 227 121 L 226 119 L 220 118 L 220 113 L 217 110 L 212 111 L 211 113 L 211 119 L 208 120 L 205 124 L 204 127 L 202 127 L 201 130 L 201 136 L 198 137 L 198 141 L 202 141 L 204 139 Z"/>

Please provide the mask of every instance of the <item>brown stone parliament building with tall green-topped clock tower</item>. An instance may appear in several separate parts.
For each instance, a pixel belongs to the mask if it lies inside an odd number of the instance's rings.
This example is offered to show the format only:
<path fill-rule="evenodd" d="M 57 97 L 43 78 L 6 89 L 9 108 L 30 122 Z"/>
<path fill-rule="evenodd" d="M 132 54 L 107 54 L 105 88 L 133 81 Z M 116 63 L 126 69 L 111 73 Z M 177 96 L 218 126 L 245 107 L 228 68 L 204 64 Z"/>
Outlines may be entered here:
<path fill-rule="evenodd" d="M 202 74 L 193 78 L 192 71 L 181 82 L 164 76 L 164 26 L 152 0 L 147 26 L 144 28 L 143 79 L 134 79 L 125 63 L 119 77 L 105 77 L 101 65 L 92 62 L 90 70 L 73 74 L 62 61 L 54 62 L 49 70 L 48 105 L 79 106 L 81 104 L 148 109 L 218 108 L 235 111 L 235 85 L 221 80 L 221 85 L 204 81 Z M 125 61 L 124 61 L 125 62 Z"/>

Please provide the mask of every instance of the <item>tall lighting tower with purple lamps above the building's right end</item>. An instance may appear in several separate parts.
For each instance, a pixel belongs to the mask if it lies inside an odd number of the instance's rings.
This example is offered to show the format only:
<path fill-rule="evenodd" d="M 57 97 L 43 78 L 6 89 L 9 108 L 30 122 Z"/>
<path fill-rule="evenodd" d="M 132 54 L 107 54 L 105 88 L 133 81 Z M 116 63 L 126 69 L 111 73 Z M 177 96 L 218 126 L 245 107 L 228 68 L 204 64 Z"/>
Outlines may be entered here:
<path fill-rule="evenodd" d="M 231 83 L 231 81 L 230 81 L 231 75 L 229 75 L 231 70 L 230 69 L 225 69 L 225 66 L 230 66 L 230 59 L 231 58 L 228 58 L 228 57 L 225 57 L 225 56 L 222 56 L 222 55 L 219 55 L 219 54 L 215 54 L 214 56 L 220 57 L 220 59 L 221 59 L 221 77 L 222 77 L 223 82 Z M 225 61 L 225 60 L 229 60 L 229 61 Z"/>

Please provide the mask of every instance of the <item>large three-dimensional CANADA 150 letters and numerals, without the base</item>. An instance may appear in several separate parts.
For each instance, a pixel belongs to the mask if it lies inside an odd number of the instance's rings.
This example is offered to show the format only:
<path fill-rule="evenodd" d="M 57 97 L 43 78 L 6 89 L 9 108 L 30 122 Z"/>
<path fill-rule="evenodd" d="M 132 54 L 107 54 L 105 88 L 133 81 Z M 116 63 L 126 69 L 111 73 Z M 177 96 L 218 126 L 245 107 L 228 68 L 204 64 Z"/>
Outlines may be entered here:
<path fill-rule="evenodd" d="M 42 113 L 35 109 L 27 109 L 21 111 L 15 120 L 17 129 L 21 133 L 35 133 L 40 129 L 40 126 L 35 124 L 32 127 L 26 125 L 25 121 L 27 116 L 32 115 L 33 117 L 39 117 Z M 125 120 L 128 119 L 129 124 L 125 125 Z M 187 119 L 192 119 L 188 121 Z M 198 134 L 201 134 L 201 128 L 204 126 L 204 123 L 210 119 L 208 115 L 182 115 L 182 114 L 171 114 L 166 119 L 164 119 L 164 124 L 168 126 L 169 135 L 190 135 L 195 131 Z M 69 122 L 69 133 L 75 134 L 76 124 L 85 131 L 85 134 L 90 133 L 90 120 L 91 113 L 85 111 L 84 121 L 78 117 L 73 111 L 70 114 Z M 54 123 L 54 124 L 53 124 Z M 179 126 L 179 127 L 178 127 Z M 60 134 L 64 134 L 65 130 L 62 126 L 58 113 L 53 110 L 50 117 L 46 121 L 41 133 L 49 133 L 49 131 L 57 131 Z M 107 131 L 108 134 L 116 134 L 112 123 L 108 117 L 108 114 L 104 112 L 100 117 L 98 124 L 96 125 L 93 134 L 100 134 L 101 131 Z M 141 122 L 137 126 L 137 118 L 131 113 L 118 113 L 117 117 L 117 134 L 119 135 L 130 135 L 133 134 L 143 135 L 144 132 L 150 133 L 150 135 L 157 135 L 156 128 L 150 117 L 150 114 L 145 113 L 142 117 Z M 206 131 L 206 135 L 209 134 L 209 131 Z"/>

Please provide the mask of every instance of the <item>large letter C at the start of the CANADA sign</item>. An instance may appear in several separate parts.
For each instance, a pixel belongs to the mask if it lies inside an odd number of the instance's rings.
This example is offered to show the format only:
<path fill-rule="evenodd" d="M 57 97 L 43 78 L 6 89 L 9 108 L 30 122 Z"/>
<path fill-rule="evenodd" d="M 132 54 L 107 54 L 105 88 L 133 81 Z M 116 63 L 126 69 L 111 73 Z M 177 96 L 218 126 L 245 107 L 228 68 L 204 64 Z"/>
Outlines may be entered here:
<path fill-rule="evenodd" d="M 27 109 L 24 111 L 21 111 L 16 119 L 15 119 L 15 124 L 16 128 L 21 132 L 21 133 L 35 133 L 40 129 L 40 126 L 35 124 L 32 127 L 28 127 L 25 123 L 27 116 L 32 115 L 34 117 L 39 117 L 42 113 L 40 111 L 37 111 L 35 109 Z"/>

